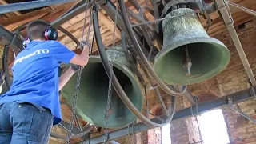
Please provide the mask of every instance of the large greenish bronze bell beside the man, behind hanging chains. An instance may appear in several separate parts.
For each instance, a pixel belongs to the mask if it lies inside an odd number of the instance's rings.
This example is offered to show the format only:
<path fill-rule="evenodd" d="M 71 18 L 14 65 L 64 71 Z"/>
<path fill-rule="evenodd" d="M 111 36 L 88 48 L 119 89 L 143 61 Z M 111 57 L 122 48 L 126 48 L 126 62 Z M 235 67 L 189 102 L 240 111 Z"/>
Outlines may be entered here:
<path fill-rule="evenodd" d="M 114 74 L 116 74 L 122 89 L 126 92 L 130 101 L 138 110 L 142 110 L 143 95 L 138 78 L 130 70 L 130 63 L 126 60 L 122 47 L 114 47 L 106 50 L 110 62 L 113 62 Z M 71 106 L 74 101 L 74 90 L 77 83 L 77 74 L 74 74 L 70 81 L 61 90 L 62 97 Z M 76 114 L 86 122 L 95 126 L 106 127 L 104 110 L 108 97 L 109 78 L 102 65 L 99 56 L 90 56 L 88 64 L 82 70 L 78 93 Z M 112 105 L 110 106 L 110 117 L 107 126 L 119 128 L 128 126 L 134 122 L 136 117 L 119 98 L 112 87 Z"/>

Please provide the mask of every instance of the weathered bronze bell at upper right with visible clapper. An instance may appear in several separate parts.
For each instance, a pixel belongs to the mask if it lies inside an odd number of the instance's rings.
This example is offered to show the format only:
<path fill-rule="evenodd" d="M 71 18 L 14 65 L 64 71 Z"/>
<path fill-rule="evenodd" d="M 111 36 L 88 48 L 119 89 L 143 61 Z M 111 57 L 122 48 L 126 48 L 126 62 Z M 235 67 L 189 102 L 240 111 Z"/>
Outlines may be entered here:
<path fill-rule="evenodd" d="M 162 22 L 163 48 L 154 61 L 154 71 L 170 85 L 190 85 L 214 77 L 230 62 L 230 51 L 203 29 L 194 10 L 171 11 Z"/>

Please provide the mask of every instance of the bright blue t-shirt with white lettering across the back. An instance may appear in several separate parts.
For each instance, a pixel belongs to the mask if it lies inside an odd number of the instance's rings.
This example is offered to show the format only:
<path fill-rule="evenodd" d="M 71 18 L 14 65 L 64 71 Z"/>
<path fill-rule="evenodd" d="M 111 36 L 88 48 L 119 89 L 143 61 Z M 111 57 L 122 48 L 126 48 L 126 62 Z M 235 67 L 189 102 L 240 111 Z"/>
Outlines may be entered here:
<path fill-rule="evenodd" d="M 54 125 L 62 121 L 58 94 L 58 66 L 69 63 L 74 52 L 58 41 L 32 41 L 22 50 L 12 67 L 13 84 L 0 97 L 4 102 L 31 102 L 54 115 Z"/>

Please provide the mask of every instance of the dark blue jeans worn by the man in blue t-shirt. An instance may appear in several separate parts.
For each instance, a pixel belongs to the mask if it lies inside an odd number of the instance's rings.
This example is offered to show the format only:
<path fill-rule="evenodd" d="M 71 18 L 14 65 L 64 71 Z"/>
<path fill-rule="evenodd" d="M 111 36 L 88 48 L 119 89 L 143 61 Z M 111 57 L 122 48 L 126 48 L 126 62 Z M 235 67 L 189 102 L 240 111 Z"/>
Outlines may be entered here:
<path fill-rule="evenodd" d="M 0 144 L 46 144 L 53 115 L 42 106 L 27 102 L 0 105 Z"/>

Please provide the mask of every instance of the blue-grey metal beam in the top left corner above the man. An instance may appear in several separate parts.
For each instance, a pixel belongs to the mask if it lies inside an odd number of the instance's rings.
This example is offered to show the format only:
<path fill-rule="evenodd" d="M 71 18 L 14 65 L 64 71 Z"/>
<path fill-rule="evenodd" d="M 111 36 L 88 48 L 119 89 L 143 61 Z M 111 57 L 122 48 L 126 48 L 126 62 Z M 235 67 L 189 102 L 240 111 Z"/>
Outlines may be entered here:
<path fill-rule="evenodd" d="M 32 2 L 16 2 L 8 5 L 0 5 L 0 14 L 10 13 L 20 10 L 30 10 L 39 7 L 57 5 L 66 2 L 74 2 L 76 0 L 41 0 Z"/>

